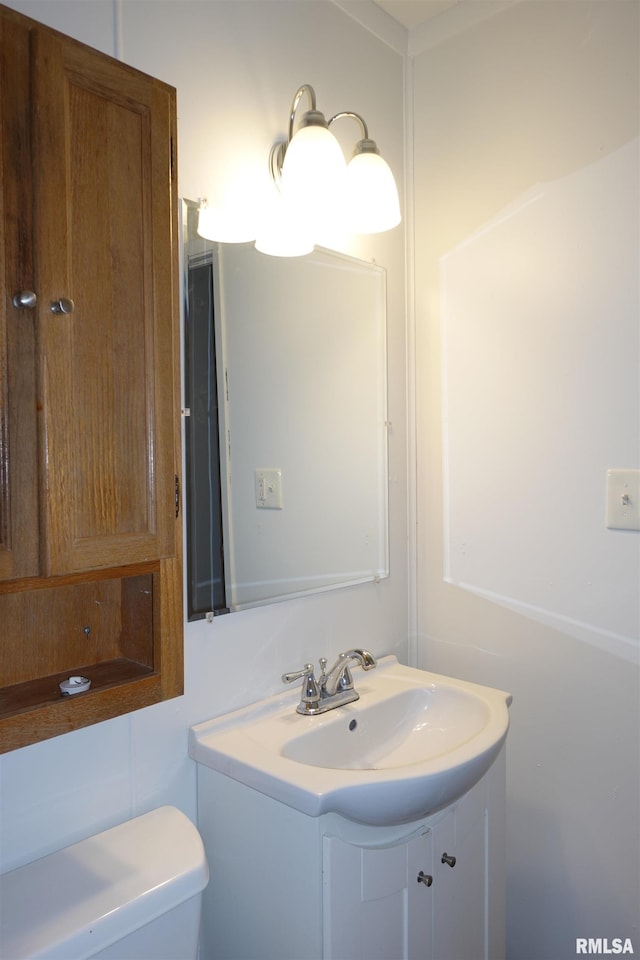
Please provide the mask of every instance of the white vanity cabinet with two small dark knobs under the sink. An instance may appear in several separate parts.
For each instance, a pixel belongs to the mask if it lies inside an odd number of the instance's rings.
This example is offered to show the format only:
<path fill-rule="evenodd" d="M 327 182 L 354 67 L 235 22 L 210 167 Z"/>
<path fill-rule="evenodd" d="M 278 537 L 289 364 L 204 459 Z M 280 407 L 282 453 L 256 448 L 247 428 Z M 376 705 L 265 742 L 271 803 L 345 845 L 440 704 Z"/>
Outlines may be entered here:
<path fill-rule="evenodd" d="M 306 816 L 199 764 L 202 960 L 501 960 L 504 777 L 503 748 L 452 806 L 382 827 Z"/>

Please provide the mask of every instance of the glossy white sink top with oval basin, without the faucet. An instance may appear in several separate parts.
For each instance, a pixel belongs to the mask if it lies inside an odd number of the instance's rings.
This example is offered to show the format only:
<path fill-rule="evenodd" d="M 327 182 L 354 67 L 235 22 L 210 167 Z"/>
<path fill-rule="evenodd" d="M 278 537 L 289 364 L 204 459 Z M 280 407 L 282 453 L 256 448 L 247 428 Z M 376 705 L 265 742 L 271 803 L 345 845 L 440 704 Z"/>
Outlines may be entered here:
<path fill-rule="evenodd" d="M 384 657 L 360 699 L 320 716 L 287 691 L 192 727 L 194 760 L 311 817 L 408 823 L 470 790 L 497 757 L 511 696 Z"/>

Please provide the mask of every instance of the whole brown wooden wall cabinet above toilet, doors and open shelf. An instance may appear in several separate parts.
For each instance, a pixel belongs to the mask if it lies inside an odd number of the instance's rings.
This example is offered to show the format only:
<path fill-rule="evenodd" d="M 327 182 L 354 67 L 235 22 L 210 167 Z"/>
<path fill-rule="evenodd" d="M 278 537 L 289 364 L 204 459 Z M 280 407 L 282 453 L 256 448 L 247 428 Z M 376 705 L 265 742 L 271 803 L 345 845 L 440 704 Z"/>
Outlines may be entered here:
<path fill-rule="evenodd" d="M 0 133 L 4 751 L 182 693 L 175 91 L 0 6 Z"/>

